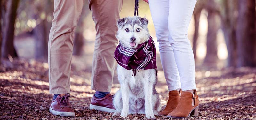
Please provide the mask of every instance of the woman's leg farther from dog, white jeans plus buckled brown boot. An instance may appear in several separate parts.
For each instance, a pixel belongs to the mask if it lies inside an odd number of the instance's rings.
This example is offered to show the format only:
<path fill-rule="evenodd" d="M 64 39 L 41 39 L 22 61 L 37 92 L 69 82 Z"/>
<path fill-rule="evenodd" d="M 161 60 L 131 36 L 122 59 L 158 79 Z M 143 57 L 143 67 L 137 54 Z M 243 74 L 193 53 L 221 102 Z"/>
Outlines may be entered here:
<path fill-rule="evenodd" d="M 182 89 L 177 107 L 167 115 L 171 118 L 198 115 L 199 100 L 195 90 L 195 60 L 188 40 L 188 26 L 195 4 L 196 0 L 170 0 L 169 4 L 169 41 L 179 70 Z"/>

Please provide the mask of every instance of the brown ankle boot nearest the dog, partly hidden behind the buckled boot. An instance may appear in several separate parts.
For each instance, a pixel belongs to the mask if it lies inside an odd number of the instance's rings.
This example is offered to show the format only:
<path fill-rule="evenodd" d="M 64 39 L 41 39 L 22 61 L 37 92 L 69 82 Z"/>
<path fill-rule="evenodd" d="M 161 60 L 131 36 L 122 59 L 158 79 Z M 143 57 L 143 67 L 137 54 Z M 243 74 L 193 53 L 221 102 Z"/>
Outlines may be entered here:
<path fill-rule="evenodd" d="M 181 90 L 180 90 L 181 92 Z M 159 113 L 159 115 L 167 115 L 172 112 L 178 105 L 180 101 L 180 92 L 177 90 L 169 91 L 169 99 L 167 101 L 167 105 L 165 109 Z"/>

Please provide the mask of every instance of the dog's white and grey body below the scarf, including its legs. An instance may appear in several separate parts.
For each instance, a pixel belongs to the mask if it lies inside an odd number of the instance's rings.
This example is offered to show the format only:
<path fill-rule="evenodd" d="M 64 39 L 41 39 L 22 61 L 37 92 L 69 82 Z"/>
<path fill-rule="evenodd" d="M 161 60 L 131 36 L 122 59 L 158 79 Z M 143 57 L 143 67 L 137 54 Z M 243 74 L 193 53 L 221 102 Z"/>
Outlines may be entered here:
<path fill-rule="evenodd" d="M 140 70 L 136 76 L 133 71 L 117 66 L 118 81 L 121 89 L 114 96 L 115 115 L 126 117 L 131 114 L 146 114 L 153 118 L 160 110 L 158 93 L 155 90 L 156 71 L 154 69 Z"/>

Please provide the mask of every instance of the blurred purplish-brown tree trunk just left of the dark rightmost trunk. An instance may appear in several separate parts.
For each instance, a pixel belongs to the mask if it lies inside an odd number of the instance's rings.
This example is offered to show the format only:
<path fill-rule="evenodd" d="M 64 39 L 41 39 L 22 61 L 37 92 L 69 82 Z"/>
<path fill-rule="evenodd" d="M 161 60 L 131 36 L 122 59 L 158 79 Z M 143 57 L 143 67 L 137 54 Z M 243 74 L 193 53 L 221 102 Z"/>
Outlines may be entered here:
<path fill-rule="evenodd" d="M 236 67 L 237 64 L 237 4 L 237 0 L 220 0 L 221 25 L 228 50 L 227 67 Z"/>

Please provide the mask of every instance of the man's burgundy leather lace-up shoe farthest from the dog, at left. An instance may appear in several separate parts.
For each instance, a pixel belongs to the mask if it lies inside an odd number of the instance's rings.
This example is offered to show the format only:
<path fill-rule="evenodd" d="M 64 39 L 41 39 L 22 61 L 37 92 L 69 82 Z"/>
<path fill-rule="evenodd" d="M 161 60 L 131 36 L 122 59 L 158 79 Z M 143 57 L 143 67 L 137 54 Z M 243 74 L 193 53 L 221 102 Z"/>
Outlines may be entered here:
<path fill-rule="evenodd" d="M 61 94 L 58 95 L 58 97 L 52 101 L 49 109 L 50 113 L 52 113 L 53 115 L 74 117 L 75 112 L 69 103 L 68 97 L 70 97 L 69 94 L 65 94 L 62 97 Z"/>

